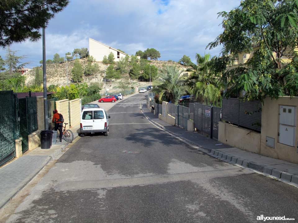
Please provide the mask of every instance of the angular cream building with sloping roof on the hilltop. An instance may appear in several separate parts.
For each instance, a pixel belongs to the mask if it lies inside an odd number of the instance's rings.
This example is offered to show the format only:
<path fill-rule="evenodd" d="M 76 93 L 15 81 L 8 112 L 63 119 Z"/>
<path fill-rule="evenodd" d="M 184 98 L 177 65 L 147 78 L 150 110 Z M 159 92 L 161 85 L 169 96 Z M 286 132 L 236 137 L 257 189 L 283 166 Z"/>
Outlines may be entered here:
<path fill-rule="evenodd" d="M 111 46 L 107 46 L 101 42 L 89 38 L 89 55 L 93 56 L 96 61 L 102 61 L 103 57 L 108 56 L 110 53 L 114 54 L 115 61 L 119 61 L 120 58 L 125 57 L 127 54 L 123 53 Z"/>

